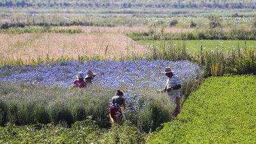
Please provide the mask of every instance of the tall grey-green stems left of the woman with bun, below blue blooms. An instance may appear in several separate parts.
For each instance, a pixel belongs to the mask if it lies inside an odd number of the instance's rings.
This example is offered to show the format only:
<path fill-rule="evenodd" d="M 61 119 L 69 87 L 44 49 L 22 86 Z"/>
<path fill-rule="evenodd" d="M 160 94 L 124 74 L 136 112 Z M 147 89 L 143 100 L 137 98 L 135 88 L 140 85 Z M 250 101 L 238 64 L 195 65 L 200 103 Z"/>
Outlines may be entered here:
<path fill-rule="evenodd" d="M 108 101 L 114 89 L 98 85 L 85 89 L 2 82 L 0 84 L 1 125 L 66 123 L 92 116 L 100 126 L 109 126 Z"/>

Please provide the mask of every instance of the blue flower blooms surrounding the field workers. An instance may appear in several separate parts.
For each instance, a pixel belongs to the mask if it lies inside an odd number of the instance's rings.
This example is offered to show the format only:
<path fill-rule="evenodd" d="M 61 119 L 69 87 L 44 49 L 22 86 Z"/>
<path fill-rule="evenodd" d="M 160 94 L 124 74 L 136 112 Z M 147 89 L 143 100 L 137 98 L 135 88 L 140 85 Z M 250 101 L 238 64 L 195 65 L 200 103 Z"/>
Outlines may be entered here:
<path fill-rule="evenodd" d="M 157 91 L 164 88 L 166 76 L 161 72 L 165 66 L 171 66 L 183 82 L 193 81 L 202 73 L 199 65 L 187 60 L 60 62 L 36 66 L 5 66 L 0 68 L 0 82 L 30 82 L 68 87 L 72 86 L 77 72 L 86 73 L 91 69 L 98 73 L 93 80 L 95 84 L 123 89 L 127 103 L 132 103 L 133 95 L 138 93 L 134 89 Z"/>

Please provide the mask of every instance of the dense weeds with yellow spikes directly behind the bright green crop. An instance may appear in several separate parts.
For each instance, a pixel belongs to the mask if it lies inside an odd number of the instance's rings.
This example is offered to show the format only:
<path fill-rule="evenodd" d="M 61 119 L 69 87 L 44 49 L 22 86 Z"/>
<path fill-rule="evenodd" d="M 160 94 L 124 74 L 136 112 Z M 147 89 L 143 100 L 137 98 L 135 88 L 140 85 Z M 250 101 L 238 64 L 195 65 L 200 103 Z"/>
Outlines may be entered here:
<path fill-rule="evenodd" d="M 207 76 L 225 74 L 256 74 L 256 50 L 235 49 L 224 53 L 223 50 L 203 52 L 203 65 Z"/>

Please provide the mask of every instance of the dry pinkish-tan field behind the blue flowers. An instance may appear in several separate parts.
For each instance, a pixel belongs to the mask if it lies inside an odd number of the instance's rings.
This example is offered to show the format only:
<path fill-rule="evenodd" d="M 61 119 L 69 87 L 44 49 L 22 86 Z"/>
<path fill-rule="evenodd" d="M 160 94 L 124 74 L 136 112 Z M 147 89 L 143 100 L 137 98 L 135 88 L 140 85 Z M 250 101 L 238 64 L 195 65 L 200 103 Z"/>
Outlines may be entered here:
<path fill-rule="evenodd" d="M 105 59 L 141 53 L 146 49 L 123 34 L 0 34 L 0 60 L 28 60 L 37 57 L 58 59 L 66 56 L 77 60 L 79 56 L 99 55 Z M 107 50 L 106 50 L 107 47 Z"/>

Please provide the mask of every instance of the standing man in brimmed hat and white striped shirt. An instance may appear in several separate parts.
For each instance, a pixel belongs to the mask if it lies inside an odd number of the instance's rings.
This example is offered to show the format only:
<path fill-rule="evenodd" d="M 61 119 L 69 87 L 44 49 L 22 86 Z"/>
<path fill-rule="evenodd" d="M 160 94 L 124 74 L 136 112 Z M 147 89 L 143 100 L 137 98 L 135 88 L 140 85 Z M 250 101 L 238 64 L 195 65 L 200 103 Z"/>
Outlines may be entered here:
<path fill-rule="evenodd" d="M 165 88 L 161 92 L 167 92 L 171 101 L 175 105 L 175 111 L 173 116 L 177 116 L 180 113 L 180 88 L 181 79 L 174 74 L 174 71 L 170 67 L 164 69 L 165 75 L 168 77 Z"/>

